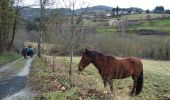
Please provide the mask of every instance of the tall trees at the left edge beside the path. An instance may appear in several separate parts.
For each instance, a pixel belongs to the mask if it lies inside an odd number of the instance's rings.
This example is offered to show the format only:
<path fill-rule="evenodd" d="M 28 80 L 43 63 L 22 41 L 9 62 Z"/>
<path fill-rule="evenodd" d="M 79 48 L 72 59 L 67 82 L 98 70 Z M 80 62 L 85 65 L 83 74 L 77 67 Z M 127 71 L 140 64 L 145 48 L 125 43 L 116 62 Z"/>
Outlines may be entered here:
<path fill-rule="evenodd" d="M 21 2 L 22 0 L 0 0 L 0 55 L 12 49 L 20 11 L 27 7 L 20 6 Z"/>

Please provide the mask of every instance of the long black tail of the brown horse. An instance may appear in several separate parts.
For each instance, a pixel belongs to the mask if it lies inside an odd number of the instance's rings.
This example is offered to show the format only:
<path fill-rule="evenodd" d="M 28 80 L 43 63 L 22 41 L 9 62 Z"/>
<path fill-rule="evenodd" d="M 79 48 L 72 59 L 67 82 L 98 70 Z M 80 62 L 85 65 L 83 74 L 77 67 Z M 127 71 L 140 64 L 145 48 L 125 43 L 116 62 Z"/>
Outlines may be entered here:
<path fill-rule="evenodd" d="M 143 71 L 141 72 L 140 76 L 137 79 L 135 95 L 140 94 L 140 92 L 142 91 L 142 87 L 143 87 Z"/>

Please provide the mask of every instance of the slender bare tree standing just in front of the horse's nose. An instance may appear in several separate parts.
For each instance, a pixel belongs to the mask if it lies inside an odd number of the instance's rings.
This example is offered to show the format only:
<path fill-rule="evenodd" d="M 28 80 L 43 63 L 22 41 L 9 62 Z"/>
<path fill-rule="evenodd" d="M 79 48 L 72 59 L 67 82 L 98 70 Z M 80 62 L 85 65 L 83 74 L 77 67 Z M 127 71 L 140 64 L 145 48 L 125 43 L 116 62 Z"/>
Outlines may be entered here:
<path fill-rule="evenodd" d="M 60 33 L 63 35 L 65 41 L 67 41 L 67 45 L 69 46 L 69 54 L 70 54 L 70 63 L 69 63 L 69 80 L 72 76 L 72 63 L 73 63 L 73 55 L 76 42 L 78 38 L 83 33 L 86 26 L 83 26 L 83 14 L 86 12 L 88 5 L 85 8 L 82 8 L 80 13 L 76 15 L 75 6 L 77 4 L 77 0 L 61 0 L 60 4 L 64 5 L 64 8 L 68 10 L 66 16 L 63 20 L 65 22 L 60 27 Z M 83 2 L 85 5 L 85 2 Z"/>

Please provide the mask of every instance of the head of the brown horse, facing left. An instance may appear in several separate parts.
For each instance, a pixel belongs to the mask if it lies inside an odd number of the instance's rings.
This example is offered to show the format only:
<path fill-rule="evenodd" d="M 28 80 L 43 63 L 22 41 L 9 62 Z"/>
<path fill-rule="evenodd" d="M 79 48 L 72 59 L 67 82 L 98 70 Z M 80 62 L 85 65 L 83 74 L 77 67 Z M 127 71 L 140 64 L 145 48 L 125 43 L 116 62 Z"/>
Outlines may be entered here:
<path fill-rule="evenodd" d="M 78 65 L 78 70 L 83 71 L 86 66 L 88 66 L 94 60 L 94 52 L 85 50 Z"/>

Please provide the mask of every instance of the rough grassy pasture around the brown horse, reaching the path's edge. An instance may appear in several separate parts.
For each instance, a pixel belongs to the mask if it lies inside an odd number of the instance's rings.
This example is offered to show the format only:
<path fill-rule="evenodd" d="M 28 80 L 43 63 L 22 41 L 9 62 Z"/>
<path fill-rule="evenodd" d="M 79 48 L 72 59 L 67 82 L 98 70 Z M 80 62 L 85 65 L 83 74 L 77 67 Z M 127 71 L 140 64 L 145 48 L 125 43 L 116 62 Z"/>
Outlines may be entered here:
<path fill-rule="evenodd" d="M 51 59 L 49 57 L 48 59 Z M 78 74 L 77 64 L 80 57 L 74 57 L 73 76 L 71 83 L 68 81 L 68 57 L 56 58 L 56 70 L 52 72 L 51 67 L 44 66 L 41 60 L 33 64 L 34 74 L 31 83 L 34 89 L 41 91 L 36 99 L 46 98 L 48 100 L 77 100 L 85 98 L 88 100 L 162 100 L 170 98 L 170 61 L 155 61 L 143 59 L 144 64 L 144 87 L 141 95 L 137 97 L 128 96 L 133 81 L 131 78 L 113 80 L 113 94 L 103 94 L 103 82 L 96 68 L 90 64 L 83 73 Z M 50 61 L 50 60 L 49 60 Z M 56 89 L 56 84 L 65 87 Z M 84 100 L 84 99 L 83 99 Z"/>

